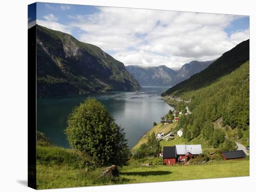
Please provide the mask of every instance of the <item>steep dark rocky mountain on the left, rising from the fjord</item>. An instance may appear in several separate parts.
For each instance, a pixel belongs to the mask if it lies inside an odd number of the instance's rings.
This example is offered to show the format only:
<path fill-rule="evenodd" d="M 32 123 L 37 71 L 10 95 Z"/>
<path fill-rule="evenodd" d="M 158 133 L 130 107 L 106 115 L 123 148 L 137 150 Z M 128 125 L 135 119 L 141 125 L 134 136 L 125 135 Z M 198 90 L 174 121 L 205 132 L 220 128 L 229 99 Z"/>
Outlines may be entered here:
<path fill-rule="evenodd" d="M 36 25 L 37 96 L 138 90 L 123 63 L 99 47 Z"/>

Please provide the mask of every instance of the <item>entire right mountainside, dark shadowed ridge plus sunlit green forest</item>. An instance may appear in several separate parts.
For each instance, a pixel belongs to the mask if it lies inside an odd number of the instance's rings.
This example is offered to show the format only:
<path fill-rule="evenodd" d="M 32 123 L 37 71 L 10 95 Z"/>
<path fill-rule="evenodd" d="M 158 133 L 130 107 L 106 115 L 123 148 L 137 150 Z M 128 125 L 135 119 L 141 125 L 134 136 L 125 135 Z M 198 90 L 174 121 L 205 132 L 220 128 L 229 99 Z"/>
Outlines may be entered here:
<path fill-rule="evenodd" d="M 234 141 L 249 145 L 249 40 L 162 96 L 176 110 L 191 112 L 178 122 L 187 141 L 222 151 L 234 149 Z"/>

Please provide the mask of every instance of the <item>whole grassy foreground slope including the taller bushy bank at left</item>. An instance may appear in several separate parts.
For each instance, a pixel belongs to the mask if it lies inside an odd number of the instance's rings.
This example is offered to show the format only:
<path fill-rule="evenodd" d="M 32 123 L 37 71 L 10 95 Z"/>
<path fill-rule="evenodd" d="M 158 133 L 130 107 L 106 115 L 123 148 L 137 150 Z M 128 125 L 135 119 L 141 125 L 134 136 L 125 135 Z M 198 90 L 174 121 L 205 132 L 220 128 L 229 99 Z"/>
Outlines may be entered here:
<path fill-rule="evenodd" d="M 190 166 L 123 166 L 118 179 L 100 178 L 103 168 L 83 168 L 70 149 L 37 148 L 38 189 L 249 176 L 249 160 L 211 161 Z M 191 174 L 193 173 L 193 174 Z"/>

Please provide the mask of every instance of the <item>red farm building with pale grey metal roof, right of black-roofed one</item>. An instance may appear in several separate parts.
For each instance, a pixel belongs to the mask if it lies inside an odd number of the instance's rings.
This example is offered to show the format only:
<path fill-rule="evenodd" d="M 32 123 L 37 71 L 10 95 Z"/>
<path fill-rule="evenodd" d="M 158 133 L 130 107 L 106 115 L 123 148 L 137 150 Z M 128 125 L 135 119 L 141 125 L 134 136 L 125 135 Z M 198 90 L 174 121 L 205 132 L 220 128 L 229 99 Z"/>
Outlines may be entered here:
<path fill-rule="evenodd" d="M 175 145 L 175 147 L 179 161 L 188 161 L 194 155 L 202 154 L 201 145 Z"/>

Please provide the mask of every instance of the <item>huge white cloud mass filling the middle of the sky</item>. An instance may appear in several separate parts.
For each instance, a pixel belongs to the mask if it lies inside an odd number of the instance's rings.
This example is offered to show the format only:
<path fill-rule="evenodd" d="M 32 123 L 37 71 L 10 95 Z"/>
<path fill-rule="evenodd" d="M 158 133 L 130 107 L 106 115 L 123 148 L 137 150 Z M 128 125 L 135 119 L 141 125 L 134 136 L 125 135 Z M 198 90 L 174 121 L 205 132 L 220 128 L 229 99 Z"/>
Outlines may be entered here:
<path fill-rule="evenodd" d="M 191 60 L 211 60 L 249 38 L 230 37 L 224 28 L 241 16 L 99 7 L 90 15 L 69 15 L 81 41 L 114 52 L 124 64 L 180 67 Z"/>

